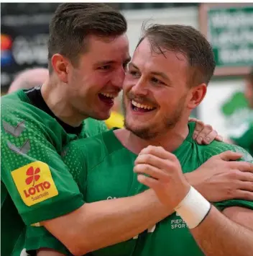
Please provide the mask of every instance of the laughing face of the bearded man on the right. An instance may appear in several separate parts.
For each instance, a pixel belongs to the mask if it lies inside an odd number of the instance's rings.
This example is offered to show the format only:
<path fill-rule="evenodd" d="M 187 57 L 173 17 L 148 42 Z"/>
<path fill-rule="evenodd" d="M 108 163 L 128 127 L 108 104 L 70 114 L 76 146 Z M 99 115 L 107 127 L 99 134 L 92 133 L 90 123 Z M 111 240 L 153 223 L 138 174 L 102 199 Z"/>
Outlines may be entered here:
<path fill-rule="evenodd" d="M 198 92 L 197 87 L 188 86 L 185 56 L 170 50 L 164 54 L 155 53 L 145 38 L 135 50 L 126 73 L 125 126 L 140 138 L 155 138 L 174 128 L 189 115 L 189 103 Z"/>

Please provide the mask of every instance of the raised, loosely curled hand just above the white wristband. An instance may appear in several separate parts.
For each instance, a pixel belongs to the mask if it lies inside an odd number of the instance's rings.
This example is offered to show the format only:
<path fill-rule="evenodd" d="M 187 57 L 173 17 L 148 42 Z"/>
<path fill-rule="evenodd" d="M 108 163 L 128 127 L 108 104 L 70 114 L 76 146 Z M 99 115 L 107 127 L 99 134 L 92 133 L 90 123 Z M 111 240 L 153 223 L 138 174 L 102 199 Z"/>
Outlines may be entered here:
<path fill-rule="evenodd" d="M 134 164 L 139 182 L 155 190 L 157 198 L 168 208 L 178 206 L 190 190 L 177 157 L 160 146 L 142 149 Z"/>

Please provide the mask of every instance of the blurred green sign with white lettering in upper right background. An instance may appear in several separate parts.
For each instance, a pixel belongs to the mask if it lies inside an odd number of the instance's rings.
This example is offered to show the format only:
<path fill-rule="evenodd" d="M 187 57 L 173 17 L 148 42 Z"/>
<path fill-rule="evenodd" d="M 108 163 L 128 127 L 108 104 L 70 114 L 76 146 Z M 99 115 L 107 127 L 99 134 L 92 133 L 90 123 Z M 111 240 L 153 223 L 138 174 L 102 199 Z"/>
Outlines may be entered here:
<path fill-rule="evenodd" d="M 201 4 L 201 32 L 213 47 L 216 76 L 249 73 L 253 66 L 253 4 Z"/>

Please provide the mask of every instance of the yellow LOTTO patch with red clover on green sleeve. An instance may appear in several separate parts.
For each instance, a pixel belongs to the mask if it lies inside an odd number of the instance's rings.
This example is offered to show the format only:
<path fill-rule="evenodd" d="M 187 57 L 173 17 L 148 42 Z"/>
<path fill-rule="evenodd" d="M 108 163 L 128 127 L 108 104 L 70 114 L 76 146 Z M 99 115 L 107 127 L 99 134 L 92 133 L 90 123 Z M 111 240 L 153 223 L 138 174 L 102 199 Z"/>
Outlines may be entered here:
<path fill-rule="evenodd" d="M 35 205 L 58 195 L 57 187 L 47 164 L 37 161 L 12 172 L 19 195 L 27 206 Z"/>

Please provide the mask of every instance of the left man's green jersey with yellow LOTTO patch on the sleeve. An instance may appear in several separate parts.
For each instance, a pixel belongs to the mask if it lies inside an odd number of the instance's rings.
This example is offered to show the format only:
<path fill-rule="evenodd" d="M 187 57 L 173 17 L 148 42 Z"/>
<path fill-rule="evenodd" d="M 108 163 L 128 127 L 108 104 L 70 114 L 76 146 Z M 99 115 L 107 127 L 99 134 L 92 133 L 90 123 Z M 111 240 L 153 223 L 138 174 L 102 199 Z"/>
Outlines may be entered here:
<path fill-rule="evenodd" d="M 88 119 L 82 127 L 78 136 L 68 134 L 54 117 L 32 105 L 24 91 L 1 97 L 1 255 L 20 255 L 26 225 L 83 205 L 60 154 L 70 141 L 106 126 Z"/>

